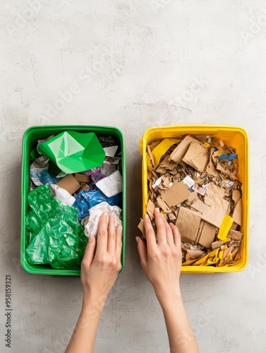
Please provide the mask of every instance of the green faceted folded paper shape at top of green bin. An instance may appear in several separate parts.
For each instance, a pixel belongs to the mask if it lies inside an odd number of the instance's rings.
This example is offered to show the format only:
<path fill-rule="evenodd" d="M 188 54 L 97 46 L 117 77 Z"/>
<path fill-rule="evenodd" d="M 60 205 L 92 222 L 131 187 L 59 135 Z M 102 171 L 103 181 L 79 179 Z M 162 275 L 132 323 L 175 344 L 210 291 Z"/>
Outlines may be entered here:
<path fill-rule="evenodd" d="M 40 143 L 39 153 L 46 155 L 67 174 L 100 167 L 105 152 L 95 133 L 64 131 Z"/>

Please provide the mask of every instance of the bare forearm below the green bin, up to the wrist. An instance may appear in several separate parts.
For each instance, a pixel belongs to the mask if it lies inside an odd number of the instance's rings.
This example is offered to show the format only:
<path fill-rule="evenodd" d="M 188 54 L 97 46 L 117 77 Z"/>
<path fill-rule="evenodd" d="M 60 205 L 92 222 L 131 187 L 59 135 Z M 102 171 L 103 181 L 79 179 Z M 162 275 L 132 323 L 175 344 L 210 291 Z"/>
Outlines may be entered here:
<path fill-rule="evenodd" d="M 83 298 L 78 323 L 66 348 L 66 353 L 93 353 L 99 318 L 105 299 Z"/>

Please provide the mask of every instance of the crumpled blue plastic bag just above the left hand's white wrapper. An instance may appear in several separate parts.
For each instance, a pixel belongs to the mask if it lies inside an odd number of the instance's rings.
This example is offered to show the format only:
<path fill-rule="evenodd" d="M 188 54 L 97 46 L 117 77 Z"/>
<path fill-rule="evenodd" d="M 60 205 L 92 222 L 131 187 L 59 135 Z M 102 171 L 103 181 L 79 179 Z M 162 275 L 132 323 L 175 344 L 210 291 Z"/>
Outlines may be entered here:
<path fill-rule="evenodd" d="M 75 203 L 73 206 L 78 208 L 78 220 L 81 221 L 83 218 L 90 215 L 90 208 L 99 205 L 99 203 L 107 202 L 111 206 L 119 206 L 122 203 L 122 193 L 111 198 L 107 197 L 99 190 L 86 191 L 82 190 L 75 196 Z"/>

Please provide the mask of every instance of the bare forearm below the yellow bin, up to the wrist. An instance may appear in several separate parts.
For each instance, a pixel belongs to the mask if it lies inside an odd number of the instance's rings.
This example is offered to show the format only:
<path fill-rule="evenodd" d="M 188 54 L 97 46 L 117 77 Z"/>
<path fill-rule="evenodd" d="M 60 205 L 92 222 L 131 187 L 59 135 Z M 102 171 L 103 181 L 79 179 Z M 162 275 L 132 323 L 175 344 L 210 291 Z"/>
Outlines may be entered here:
<path fill-rule="evenodd" d="M 180 293 L 159 299 L 164 313 L 171 353 L 198 353 Z"/>

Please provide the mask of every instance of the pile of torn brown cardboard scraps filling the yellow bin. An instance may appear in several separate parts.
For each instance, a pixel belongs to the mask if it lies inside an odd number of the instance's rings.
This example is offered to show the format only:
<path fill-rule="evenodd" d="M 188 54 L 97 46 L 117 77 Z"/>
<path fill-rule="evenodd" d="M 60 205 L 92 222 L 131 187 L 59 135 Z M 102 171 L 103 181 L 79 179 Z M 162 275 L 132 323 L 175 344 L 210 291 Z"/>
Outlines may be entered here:
<path fill-rule="evenodd" d="M 159 207 L 178 227 L 183 265 L 236 263 L 243 234 L 234 147 L 205 135 L 156 140 L 147 145 L 147 169 L 147 214 L 154 221 Z M 139 228 L 145 235 L 143 220 Z"/>

